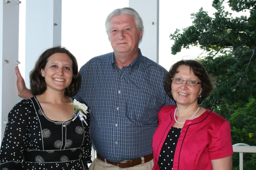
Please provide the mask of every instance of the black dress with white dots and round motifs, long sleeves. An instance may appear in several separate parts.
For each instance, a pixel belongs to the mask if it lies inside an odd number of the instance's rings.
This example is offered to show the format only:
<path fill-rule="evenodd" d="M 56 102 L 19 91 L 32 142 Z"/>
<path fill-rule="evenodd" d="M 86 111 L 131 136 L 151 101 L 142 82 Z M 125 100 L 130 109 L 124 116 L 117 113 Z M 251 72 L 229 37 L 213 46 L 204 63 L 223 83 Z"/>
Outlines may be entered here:
<path fill-rule="evenodd" d="M 8 116 L 0 170 L 87 170 L 92 147 L 89 113 L 86 122 L 88 126 L 78 117 L 49 120 L 36 96 L 22 100 Z"/>

